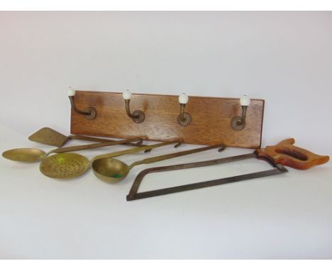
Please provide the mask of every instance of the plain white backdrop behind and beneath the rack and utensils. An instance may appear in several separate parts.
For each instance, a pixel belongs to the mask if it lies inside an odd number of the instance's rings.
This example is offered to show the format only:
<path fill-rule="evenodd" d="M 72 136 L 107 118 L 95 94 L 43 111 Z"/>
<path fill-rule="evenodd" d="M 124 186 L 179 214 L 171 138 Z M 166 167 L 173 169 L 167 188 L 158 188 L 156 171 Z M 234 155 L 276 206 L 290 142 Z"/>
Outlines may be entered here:
<path fill-rule="evenodd" d="M 69 134 L 71 85 L 104 92 L 249 94 L 266 101 L 262 146 L 294 137 L 300 147 L 329 155 L 331 48 L 332 12 L 0 12 L 1 150 L 47 149 L 26 139 L 43 126 Z M 330 164 L 303 175 L 290 172 L 308 181 L 302 188 L 287 178 L 279 190 L 268 182 L 260 183 L 265 188 L 247 184 L 240 199 L 238 191 L 218 187 L 206 192 L 209 197 L 188 192 L 129 205 L 129 181 L 109 202 L 109 187 L 89 186 L 84 178 L 43 182 L 31 166 L 3 159 L 0 166 L 3 258 L 332 257 Z M 248 199 L 256 204 L 249 211 Z M 113 213 L 101 211 L 110 206 Z M 144 221 L 152 223 L 150 231 Z M 314 225 L 306 231 L 308 223 Z"/>

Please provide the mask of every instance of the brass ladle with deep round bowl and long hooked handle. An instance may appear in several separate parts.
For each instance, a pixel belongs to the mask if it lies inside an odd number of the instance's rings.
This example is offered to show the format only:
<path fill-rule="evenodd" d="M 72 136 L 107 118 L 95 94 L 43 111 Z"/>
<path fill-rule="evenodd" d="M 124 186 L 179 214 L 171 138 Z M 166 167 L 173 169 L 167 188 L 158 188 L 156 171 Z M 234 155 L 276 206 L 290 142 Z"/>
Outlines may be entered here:
<path fill-rule="evenodd" d="M 121 179 L 124 179 L 128 172 L 131 170 L 131 168 L 135 167 L 135 165 L 142 165 L 142 164 L 150 164 L 152 162 L 159 162 L 183 155 L 190 155 L 192 153 L 199 153 L 204 150 L 211 150 L 219 148 L 219 152 L 225 149 L 225 145 L 218 144 L 218 145 L 212 145 L 208 147 L 203 148 L 197 148 L 193 150 L 184 150 L 179 153 L 170 153 L 167 155 L 160 155 L 156 157 L 150 157 L 144 160 L 140 160 L 137 162 L 134 162 L 131 165 L 127 165 L 126 163 L 122 162 L 121 160 L 117 159 L 111 159 L 110 157 L 99 157 L 94 159 L 92 162 L 92 170 L 94 171 L 94 175 L 101 179 L 104 182 L 119 182 Z"/>

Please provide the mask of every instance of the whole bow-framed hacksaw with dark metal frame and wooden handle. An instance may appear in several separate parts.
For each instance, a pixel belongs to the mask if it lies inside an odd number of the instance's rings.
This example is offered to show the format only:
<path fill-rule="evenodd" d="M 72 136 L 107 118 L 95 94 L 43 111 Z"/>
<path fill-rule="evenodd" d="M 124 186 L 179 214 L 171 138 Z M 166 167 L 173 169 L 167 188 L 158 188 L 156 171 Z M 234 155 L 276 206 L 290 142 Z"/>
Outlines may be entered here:
<path fill-rule="evenodd" d="M 309 167 L 312 167 L 314 165 L 321 165 L 328 162 L 328 156 L 316 155 L 309 152 L 309 150 L 298 148 L 293 145 L 294 142 L 294 138 L 289 138 L 283 140 L 278 145 L 267 146 L 266 148 L 255 150 L 255 153 L 248 153 L 245 155 L 237 155 L 233 157 L 226 157 L 202 162 L 191 162 L 182 165 L 169 165 L 166 167 L 148 168 L 141 171 L 135 178 L 135 181 L 133 182 L 131 190 L 127 196 L 127 201 L 133 201 L 135 199 L 145 199 L 148 197 L 156 197 L 160 195 L 183 192 L 204 187 L 212 187 L 219 184 L 228 184 L 231 182 L 239 182 L 247 179 L 255 179 L 259 177 L 266 177 L 288 172 L 288 170 L 283 165 L 293 167 L 297 170 L 307 170 Z M 153 172 L 165 172 L 171 170 L 184 170 L 194 167 L 206 167 L 209 165 L 219 165 L 226 162 L 234 162 L 253 157 L 269 162 L 273 167 L 275 167 L 275 169 L 138 193 L 138 187 L 140 186 L 143 178 Z"/>

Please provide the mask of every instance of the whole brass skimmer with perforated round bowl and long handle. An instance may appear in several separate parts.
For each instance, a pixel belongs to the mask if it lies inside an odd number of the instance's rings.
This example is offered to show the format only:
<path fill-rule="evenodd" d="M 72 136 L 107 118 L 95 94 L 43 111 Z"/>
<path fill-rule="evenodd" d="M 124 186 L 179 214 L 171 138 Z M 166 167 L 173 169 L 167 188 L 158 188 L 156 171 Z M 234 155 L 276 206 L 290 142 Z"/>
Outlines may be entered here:
<path fill-rule="evenodd" d="M 181 145 L 181 140 L 158 143 L 155 145 L 145 145 L 139 148 L 132 148 L 129 150 L 121 150 L 115 153 L 97 155 L 96 157 L 92 158 L 91 161 L 89 161 L 87 157 L 77 153 L 58 153 L 56 155 L 45 158 L 40 163 L 39 170 L 43 173 L 43 175 L 51 178 L 72 179 L 74 177 L 79 177 L 79 175 L 82 175 L 84 172 L 86 172 L 89 169 L 90 163 L 95 159 L 137 153 L 141 150 L 152 150 L 153 148 L 159 148 L 171 144 L 176 144 L 175 148 L 177 148 L 179 145 Z"/>

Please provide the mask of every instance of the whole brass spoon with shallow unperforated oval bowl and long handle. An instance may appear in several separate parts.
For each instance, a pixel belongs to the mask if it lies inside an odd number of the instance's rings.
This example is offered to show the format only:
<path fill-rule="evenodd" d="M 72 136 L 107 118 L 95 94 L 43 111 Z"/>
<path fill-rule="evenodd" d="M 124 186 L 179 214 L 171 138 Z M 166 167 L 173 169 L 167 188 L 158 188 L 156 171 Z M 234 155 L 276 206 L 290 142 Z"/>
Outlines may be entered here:
<path fill-rule="evenodd" d="M 118 145 L 133 141 L 139 141 L 138 144 L 141 144 L 143 142 L 142 138 L 131 138 L 126 140 L 111 141 L 106 143 L 95 143 L 89 145 L 72 146 L 67 148 L 57 148 L 55 150 L 50 150 L 48 153 L 45 153 L 43 150 L 35 148 L 18 148 L 18 149 L 6 150 L 4 153 L 2 153 L 2 156 L 5 157 L 6 159 L 17 162 L 40 162 L 51 153 L 66 153 L 74 150 L 88 150 L 92 148 L 101 148 L 101 147 Z"/>

